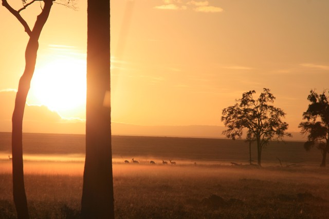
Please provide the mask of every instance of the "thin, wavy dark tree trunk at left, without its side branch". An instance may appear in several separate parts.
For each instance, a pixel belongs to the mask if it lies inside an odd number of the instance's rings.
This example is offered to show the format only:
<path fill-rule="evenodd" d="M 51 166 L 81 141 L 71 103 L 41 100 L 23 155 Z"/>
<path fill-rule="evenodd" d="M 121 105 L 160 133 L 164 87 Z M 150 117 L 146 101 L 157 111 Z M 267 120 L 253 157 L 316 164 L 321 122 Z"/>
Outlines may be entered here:
<path fill-rule="evenodd" d="M 12 114 L 12 177 L 13 177 L 13 199 L 16 207 L 17 218 L 29 218 L 27 198 L 24 186 L 23 169 L 23 115 L 26 97 L 30 89 L 30 82 L 34 73 L 36 53 L 39 48 L 39 36 L 46 23 L 52 1 L 45 0 L 45 6 L 37 17 L 33 31 L 25 50 L 25 70 L 20 79 L 19 88 L 16 93 L 15 107 Z"/>

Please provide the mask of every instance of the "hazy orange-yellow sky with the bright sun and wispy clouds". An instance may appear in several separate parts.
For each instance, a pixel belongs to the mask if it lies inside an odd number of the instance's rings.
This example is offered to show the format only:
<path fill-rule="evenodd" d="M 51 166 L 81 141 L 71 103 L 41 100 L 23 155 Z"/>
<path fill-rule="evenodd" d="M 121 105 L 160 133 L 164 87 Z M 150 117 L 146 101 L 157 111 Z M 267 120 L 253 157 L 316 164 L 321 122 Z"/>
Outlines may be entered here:
<path fill-rule="evenodd" d="M 23 131 L 84 133 L 86 1 L 75 4 L 51 9 Z M 224 108 L 263 88 L 299 132 L 309 91 L 329 88 L 328 11 L 326 0 L 112 0 L 113 133 L 223 126 Z M 33 25 L 40 5 L 21 13 Z M 10 131 L 28 36 L 3 6 L 0 19 L 0 131 Z"/>

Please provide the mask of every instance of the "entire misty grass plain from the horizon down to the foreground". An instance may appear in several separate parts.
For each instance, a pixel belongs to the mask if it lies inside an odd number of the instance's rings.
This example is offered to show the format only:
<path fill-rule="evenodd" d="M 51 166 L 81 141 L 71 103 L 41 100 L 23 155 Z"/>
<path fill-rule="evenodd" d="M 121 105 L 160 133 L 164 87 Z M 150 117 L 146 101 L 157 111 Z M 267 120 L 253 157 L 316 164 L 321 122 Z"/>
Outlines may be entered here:
<path fill-rule="evenodd" d="M 84 136 L 23 139 L 31 218 L 79 218 Z M 321 152 L 306 152 L 303 142 L 271 143 L 262 167 L 249 165 L 243 140 L 113 136 L 112 142 L 116 218 L 329 217 L 329 169 L 319 167 Z M 0 133 L 0 218 L 16 218 L 8 155 L 10 133 Z"/>

